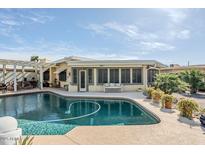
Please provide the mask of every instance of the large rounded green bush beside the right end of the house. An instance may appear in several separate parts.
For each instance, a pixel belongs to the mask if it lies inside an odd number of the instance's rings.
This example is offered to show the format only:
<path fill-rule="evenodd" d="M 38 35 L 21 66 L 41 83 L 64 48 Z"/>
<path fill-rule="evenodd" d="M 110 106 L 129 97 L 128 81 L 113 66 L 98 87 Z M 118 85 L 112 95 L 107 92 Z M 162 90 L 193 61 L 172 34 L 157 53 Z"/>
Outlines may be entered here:
<path fill-rule="evenodd" d="M 187 83 L 182 81 L 176 74 L 158 74 L 155 80 L 155 87 L 164 91 L 165 94 L 187 90 Z"/>

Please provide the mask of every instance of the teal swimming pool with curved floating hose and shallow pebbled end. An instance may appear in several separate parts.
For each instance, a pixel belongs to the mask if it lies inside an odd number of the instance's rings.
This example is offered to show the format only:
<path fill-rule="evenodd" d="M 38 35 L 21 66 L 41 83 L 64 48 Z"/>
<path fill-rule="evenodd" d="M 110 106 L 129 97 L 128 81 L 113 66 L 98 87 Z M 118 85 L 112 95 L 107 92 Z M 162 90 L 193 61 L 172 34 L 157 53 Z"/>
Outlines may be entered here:
<path fill-rule="evenodd" d="M 125 99 L 68 98 L 32 93 L 0 98 L 0 116 L 13 116 L 24 135 L 65 134 L 76 126 L 148 125 L 159 119 Z"/>

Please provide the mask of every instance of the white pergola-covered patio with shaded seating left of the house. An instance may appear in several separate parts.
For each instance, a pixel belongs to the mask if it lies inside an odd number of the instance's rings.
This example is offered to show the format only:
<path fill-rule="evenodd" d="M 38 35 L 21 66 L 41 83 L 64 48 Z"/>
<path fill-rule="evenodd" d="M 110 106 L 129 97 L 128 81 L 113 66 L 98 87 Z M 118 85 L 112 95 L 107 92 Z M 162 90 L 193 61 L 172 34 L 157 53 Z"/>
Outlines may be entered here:
<path fill-rule="evenodd" d="M 0 90 L 43 89 L 45 62 L 0 59 Z"/>

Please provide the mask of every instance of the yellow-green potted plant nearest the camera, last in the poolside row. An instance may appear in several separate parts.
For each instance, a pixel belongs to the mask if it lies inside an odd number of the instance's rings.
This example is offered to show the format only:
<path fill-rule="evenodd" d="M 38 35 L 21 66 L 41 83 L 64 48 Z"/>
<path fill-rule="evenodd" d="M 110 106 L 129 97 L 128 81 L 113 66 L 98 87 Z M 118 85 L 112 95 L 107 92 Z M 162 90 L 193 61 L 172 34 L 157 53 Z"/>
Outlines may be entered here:
<path fill-rule="evenodd" d="M 180 115 L 190 120 L 193 119 L 193 112 L 199 111 L 199 105 L 192 99 L 181 99 L 177 103 L 177 109 L 180 111 Z"/>

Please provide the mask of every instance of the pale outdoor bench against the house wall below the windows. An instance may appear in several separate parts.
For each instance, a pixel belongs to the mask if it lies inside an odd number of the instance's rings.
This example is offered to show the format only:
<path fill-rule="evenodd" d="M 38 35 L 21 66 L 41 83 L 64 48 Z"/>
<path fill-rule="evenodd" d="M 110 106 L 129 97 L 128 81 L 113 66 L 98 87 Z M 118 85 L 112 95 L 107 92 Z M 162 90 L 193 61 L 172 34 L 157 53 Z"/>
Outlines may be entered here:
<path fill-rule="evenodd" d="M 122 85 L 119 83 L 106 83 L 104 84 L 105 93 L 119 93 L 122 91 Z"/>

